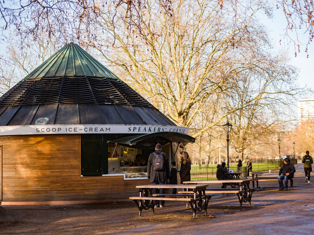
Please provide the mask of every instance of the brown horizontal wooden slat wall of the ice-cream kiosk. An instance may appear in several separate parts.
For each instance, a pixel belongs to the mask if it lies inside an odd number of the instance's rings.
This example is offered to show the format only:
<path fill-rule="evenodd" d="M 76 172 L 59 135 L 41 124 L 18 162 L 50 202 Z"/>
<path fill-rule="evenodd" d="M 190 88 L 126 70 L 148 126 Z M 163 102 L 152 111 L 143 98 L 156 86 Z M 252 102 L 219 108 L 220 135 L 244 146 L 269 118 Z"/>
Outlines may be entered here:
<path fill-rule="evenodd" d="M 80 176 L 79 135 L 1 136 L 2 201 L 75 201 L 139 196 L 149 180 Z"/>

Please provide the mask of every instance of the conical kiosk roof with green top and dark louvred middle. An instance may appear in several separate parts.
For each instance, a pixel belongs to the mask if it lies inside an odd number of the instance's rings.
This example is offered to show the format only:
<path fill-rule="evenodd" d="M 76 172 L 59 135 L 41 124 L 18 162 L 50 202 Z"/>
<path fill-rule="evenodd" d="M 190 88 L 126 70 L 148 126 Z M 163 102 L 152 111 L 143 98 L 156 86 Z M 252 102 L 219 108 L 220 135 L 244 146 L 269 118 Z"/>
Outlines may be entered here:
<path fill-rule="evenodd" d="M 74 43 L 0 97 L 0 126 L 36 124 L 176 126 Z"/>

